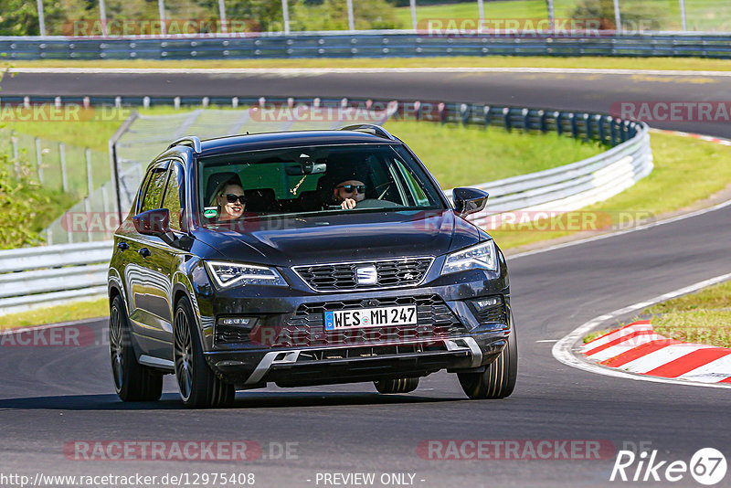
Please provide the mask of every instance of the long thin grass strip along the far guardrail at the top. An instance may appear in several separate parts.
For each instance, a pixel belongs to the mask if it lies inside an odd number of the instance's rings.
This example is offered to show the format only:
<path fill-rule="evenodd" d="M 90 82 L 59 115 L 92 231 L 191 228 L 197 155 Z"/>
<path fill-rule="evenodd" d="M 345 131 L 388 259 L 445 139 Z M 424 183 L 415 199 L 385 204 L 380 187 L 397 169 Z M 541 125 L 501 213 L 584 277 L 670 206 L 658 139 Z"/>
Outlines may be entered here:
<path fill-rule="evenodd" d="M 231 69 L 231 68 L 585 68 L 585 69 L 689 69 L 731 71 L 728 59 L 704 58 L 549 58 L 539 56 L 433 57 L 433 58 L 318 58 L 318 59 L 219 59 L 161 61 L 65 60 L 13 61 L 15 68 L 157 68 L 157 69 Z"/>

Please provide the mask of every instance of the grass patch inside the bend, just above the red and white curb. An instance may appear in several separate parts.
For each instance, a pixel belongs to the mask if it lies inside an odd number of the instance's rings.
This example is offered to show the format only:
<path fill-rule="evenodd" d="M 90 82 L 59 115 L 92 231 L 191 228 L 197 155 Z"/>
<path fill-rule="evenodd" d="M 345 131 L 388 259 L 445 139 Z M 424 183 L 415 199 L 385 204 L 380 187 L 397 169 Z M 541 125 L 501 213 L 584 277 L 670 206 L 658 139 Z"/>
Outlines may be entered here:
<path fill-rule="evenodd" d="M 731 281 L 658 303 L 652 314 L 658 334 L 683 342 L 731 347 Z"/>

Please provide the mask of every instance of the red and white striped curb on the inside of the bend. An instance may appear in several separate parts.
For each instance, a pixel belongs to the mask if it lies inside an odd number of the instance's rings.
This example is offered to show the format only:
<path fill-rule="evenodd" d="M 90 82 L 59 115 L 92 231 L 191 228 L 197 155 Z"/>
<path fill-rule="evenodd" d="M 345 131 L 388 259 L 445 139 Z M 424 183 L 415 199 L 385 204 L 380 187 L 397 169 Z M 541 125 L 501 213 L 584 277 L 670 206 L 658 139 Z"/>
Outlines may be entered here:
<path fill-rule="evenodd" d="M 641 320 L 583 345 L 581 353 L 601 366 L 651 377 L 731 383 L 731 349 L 683 343 L 657 334 Z"/>

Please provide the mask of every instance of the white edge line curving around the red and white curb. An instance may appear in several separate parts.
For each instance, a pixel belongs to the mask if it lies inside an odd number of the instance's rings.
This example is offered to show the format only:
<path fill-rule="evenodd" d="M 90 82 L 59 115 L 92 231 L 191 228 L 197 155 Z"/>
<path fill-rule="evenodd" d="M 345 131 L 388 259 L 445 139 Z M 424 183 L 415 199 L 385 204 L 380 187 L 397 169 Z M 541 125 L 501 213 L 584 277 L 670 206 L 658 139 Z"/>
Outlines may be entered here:
<path fill-rule="evenodd" d="M 728 202 L 726 202 L 726 205 L 728 205 Z M 730 279 L 731 279 L 731 273 L 722 274 L 720 276 L 716 276 L 715 278 L 711 278 L 709 280 L 698 281 L 697 283 L 694 283 L 690 286 L 680 288 L 673 292 L 664 293 L 660 296 L 656 296 L 655 298 L 652 298 L 651 300 L 635 303 L 633 305 L 629 305 L 627 307 L 620 308 L 619 310 L 615 310 L 614 312 L 599 315 L 599 317 L 593 318 L 590 321 L 588 321 L 587 323 L 578 326 L 570 334 L 567 334 L 565 337 L 563 337 L 560 341 L 558 341 L 554 345 L 551 352 L 557 361 L 559 361 L 567 366 L 576 367 L 577 369 L 582 369 L 582 370 L 588 371 L 590 373 L 597 373 L 599 375 L 604 375 L 607 377 L 623 377 L 623 378 L 628 378 L 628 379 L 634 379 L 637 381 L 651 381 L 653 383 L 669 383 L 669 384 L 673 384 L 673 385 L 686 385 L 686 386 L 693 386 L 693 387 L 731 388 L 731 385 L 720 385 L 720 384 L 716 384 L 716 383 L 709 384 L 709 383 L 703 383 L 701 381 L 689 381 L 689 380 L 683 380 L 683 379 L 647 377 L 647 376 L 642 376 L 642 375 L 635 375 L 635 374 L 628 373 L 626 371 L 622 371 L 620 369 L 604 367 L 604 366 L 596 365 L 594 363 L 590 363 L 590 362 L 586 361 L 585 359 L 581 358 L 579 355 L 574 353 L 574 350 L 575 350 L 577 344 L 579 343 L 579 341 L 581 341 L 581 339 L 586 334 L 588 334 L 589 332 L 594 330 L 600 324 L 604 324 L 605 322 L 608 322 L 609 320 L 615 319 L 615 318 L 625 315 L 627 313 L 637 312 L 639 310 L 642 310 L 643 308 L 646 308 L 648 305 L 652 305 L 652 304 L 658 303 L 658 302 L 664 302 L 666 300 L 670 300 L 671 298 L 675 298 L 675 297 L 678 297 L 681 295 L 696 292 L 707 286 L 711 286 L 711 285 L 714 285 L 716 283 L 720 283 L 723 281 L 728 281 Z"/>

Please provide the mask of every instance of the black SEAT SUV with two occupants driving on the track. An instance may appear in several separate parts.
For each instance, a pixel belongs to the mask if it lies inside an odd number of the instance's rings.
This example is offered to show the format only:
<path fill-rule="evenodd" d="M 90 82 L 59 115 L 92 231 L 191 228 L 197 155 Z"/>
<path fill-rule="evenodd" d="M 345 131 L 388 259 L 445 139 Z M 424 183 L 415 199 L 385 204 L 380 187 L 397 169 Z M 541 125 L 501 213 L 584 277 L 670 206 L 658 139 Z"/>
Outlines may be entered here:
<path fill-rule="evenodd" d="M 487 194 L 453 198 L 379 126 L 175 141 L 114 234 L 119 397 L 157 400 L 169 373 L 196 408 L 269 382 L 406 393 L 445 368 L 470 398 L 507 397 L 505 260 L 464 218 Z"/>

